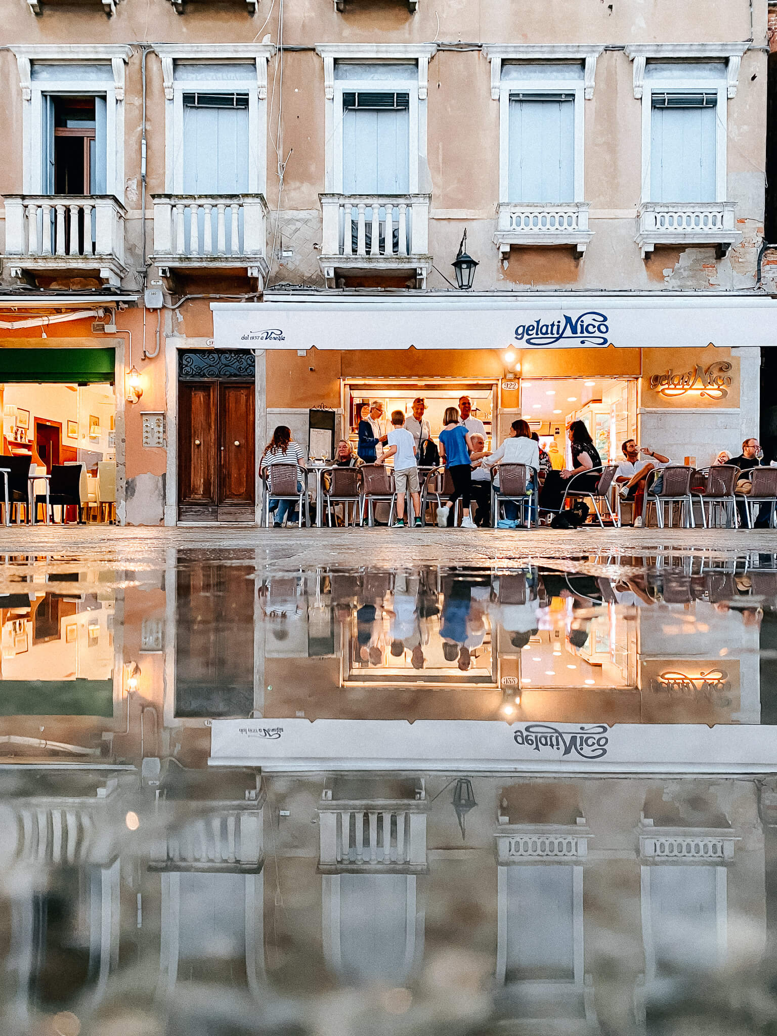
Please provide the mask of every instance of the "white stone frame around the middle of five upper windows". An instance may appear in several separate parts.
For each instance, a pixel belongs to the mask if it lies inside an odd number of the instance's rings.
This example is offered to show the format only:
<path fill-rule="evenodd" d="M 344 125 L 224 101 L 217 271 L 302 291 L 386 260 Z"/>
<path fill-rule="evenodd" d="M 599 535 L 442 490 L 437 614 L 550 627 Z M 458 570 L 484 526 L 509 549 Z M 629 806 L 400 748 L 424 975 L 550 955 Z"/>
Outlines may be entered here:
<path fill-rule="evenodd" d="M 429 61 L 437 53 L 436 44 L 319 44 L 316 53 L 324 65 L 324 139 L 325 193 L 343 192 L 343 91 L 364 89 L 356 80 L 336 80 L 336 61 L 358 61 L 380 65 L 381 62 L 413 61 L 418 65 L 415 79 L 407 84 L 391 81 L 391 89 L 409 87 L 410 93 L 410 194 L 418 194 L 422 179 L 422 164 L 427 156 L 427 96 L 429 92 Z M 367 88 L 376 89 L 378 80 Z"/>

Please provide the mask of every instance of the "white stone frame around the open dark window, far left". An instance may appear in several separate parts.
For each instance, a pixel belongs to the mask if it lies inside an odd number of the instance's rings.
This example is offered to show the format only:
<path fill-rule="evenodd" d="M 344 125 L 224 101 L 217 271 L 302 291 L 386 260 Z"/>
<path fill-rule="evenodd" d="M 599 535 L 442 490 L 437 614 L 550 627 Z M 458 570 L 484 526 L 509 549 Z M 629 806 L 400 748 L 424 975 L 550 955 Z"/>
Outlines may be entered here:
<path fill-rule="evenodd" d="M 106 94 L 106 193 L 124 202 L 124 73 L 132 57 L 128 45 L 47 44 L 11 48 L 22 92 L 22 194 L 40 194 L 44 94 Z M 73 80 L 32 80 L 33 64 L 110 64 L 111 81 L 74 90 Z"/>

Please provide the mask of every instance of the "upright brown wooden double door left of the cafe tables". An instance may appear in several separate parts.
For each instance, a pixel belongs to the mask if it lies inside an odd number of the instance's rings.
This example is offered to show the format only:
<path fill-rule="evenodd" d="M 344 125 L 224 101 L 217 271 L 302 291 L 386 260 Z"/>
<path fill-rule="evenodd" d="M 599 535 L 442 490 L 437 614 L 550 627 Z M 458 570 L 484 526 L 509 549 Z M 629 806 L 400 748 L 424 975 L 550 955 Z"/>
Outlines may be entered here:
<path fill-rule="evenodd" d="M 254 521 L 253 381 L 178 383 L 178 517 Z"/>

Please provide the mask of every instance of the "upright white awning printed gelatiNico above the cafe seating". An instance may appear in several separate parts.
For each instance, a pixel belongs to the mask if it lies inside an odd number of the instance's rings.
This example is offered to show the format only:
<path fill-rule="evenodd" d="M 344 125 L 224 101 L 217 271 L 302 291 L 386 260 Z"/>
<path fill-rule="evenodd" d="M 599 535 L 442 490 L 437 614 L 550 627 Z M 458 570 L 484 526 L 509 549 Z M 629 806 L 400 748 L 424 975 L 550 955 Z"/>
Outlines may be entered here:
<path fill-rule="evenodd" d="M 519 349 L 777 345 L 777 305 L 711 299 L 307 296 L 211 303 L 220 349 Z"/>

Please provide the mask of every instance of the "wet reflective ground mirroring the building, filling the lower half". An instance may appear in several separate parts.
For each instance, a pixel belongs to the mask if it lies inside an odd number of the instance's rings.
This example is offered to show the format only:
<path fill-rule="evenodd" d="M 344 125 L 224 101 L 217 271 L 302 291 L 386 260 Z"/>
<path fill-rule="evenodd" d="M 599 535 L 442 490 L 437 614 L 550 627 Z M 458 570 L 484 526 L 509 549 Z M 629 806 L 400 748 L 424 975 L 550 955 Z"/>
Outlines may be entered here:
<path fill-rule="evenodd" d="M 777 1031 L 773 535 L 69 531 L 0 543 L 0 1032 Z"/>

